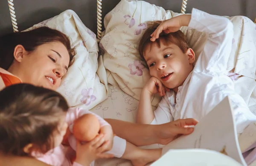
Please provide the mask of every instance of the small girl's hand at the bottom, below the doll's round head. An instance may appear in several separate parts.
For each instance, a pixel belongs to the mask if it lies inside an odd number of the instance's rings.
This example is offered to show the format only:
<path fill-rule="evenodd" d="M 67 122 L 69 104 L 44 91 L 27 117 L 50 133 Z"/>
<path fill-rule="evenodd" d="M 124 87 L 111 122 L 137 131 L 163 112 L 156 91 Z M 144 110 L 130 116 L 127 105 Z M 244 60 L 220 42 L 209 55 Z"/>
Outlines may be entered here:
<path fill-rule="evenodd" d="M 76 163 L 83 166 L 89 166 L 91 162 L 97 158 L 110 158 L 113 155 L 102 154 L 105 149 L 101 146 L 105 143 L 105 135 L 100 134 L 92 141 L 82 144 L 80 141 L 76 141 Z"/>

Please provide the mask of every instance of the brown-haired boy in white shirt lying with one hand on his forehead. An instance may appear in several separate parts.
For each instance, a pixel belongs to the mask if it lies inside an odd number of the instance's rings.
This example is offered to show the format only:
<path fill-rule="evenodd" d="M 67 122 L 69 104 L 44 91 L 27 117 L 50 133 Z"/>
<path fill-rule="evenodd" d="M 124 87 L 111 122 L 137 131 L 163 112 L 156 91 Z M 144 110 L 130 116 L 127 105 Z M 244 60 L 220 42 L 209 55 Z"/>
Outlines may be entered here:
<path fill-rule="evenodd" d="M 209 35 L 195 66 L 195 53 L 179 31 L 181 26 Z M 255 122 L 256 116 L 227 76 L 232 39 L 230 20 L 197 9 L 149 27 L 140 40 L 139 51 L 152 77 L 141 94 L 137 123 L 161 124 L 183 118 L 200 121 L 226 96 L 233 104 L 238 133 Z M 165 94 L 165 89 L 170 90 Z M 151 95 L 157 92 L 164 97 L 153 112 Z"/>

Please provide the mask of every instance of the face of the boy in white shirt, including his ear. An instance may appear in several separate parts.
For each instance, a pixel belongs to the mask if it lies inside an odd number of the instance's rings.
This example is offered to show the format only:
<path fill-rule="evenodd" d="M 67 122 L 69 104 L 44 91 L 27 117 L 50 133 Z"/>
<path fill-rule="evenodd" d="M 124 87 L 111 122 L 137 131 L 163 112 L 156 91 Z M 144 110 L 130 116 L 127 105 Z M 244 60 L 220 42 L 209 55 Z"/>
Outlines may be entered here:
<path fill-rule="evenodd" d="M 145 60 L 151 76 L 159 79 L 164 86 L 175 89 L 182 85 L 193 69 L 195 53 L 188 49 L 186 53 L 175 44 L 165 46 L 160 42 L 145 47 Z"/>

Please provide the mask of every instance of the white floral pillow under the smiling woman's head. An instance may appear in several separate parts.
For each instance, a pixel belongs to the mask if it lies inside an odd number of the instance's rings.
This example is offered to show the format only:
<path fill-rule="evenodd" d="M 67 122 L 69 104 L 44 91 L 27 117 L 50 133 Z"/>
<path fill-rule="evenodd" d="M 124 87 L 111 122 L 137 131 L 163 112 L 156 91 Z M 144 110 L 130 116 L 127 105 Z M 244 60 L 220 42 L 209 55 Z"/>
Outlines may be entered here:
<path fill-rule="evenodd" d="M 66 10 L 32 28 L 38 26 L 58 29 L 67 34 L 72 46 L 76 47 L 75 61 L 57 90 L 67 99 L 69 105 L 91 109 L 105 100 L 108 97 L 107 79 L 102 56 L 99 57 L 98 66 L 96 35 L 84 26 L 78 15 L 72 10 Z"/>

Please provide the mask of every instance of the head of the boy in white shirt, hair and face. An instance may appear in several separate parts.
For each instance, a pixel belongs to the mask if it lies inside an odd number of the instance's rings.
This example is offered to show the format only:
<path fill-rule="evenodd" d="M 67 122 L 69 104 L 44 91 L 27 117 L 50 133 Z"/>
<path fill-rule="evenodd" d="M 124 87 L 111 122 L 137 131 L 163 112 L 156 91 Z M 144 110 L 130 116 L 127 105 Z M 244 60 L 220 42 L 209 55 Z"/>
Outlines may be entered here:
<path fill-rule="evenodd" d="M 195 53 L 180 30 L 169 34 L 162 32 L 152 42 L 151 34 L 160 23 L 154 22 L 144 32 L 139 52 L 148 65 L 150 75 L 159 79 L 167 88 L 175 89 L 183 84 L 192 71 Z"/>

